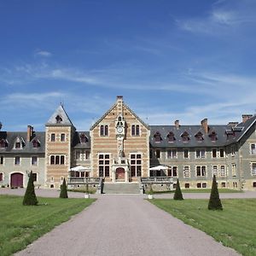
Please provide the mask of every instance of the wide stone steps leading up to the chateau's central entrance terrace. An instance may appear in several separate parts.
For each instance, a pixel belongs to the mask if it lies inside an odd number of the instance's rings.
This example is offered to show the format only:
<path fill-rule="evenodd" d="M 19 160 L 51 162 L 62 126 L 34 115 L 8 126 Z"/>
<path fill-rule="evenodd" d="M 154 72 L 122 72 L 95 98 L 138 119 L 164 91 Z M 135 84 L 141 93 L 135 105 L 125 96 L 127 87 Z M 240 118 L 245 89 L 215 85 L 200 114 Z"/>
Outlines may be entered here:
<path fill-rule="evenodd" d="M 140 194 L 139 183 L 104 183 L 103 194 Z"/>

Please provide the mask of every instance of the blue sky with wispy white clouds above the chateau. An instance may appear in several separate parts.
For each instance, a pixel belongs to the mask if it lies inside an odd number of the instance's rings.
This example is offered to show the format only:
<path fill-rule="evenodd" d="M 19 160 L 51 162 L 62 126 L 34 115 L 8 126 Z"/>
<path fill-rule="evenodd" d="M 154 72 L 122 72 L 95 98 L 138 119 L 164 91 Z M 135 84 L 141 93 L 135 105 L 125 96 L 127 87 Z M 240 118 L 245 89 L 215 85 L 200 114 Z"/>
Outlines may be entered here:
<path fill-rule="evenodd" d="M 1 1 L 3 131 L 64 103 L 88 131 L 116 100 L 149 125 L 255 113 L 256 1 Z"/>

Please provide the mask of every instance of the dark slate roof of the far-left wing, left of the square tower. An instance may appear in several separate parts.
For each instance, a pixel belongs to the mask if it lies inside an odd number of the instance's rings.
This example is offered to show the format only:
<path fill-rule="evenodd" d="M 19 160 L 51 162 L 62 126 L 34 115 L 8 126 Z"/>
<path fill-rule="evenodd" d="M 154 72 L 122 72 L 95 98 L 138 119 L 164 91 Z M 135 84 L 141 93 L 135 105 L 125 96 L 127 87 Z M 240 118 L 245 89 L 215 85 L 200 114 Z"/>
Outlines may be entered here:
<path fill-rule="evenodd" d="M 15 148 L 16 138 L 19 137 L 23 142 L 21 149 Z M 39 154 L 45 152 L 45 132 L 34 132 L 30 142 L 26 141 L 26 132 L 21 131 L 0 131 L 0 140 L 6 140 L 8 143 L 7 148 L 0 148 L 0 153 L 4 154 Z M 38 148 L 33 147 L 33 140 L 37 139 L 39 143 Z"/>

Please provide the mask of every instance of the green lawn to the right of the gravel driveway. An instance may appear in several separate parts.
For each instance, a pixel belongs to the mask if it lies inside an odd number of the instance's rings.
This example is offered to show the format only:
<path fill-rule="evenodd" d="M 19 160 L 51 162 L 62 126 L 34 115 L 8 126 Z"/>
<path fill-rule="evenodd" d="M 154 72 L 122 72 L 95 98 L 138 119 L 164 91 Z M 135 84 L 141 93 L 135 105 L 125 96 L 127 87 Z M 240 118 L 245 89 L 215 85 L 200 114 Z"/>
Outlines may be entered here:
<path fill-rule="evenodd" d="M 256 199 L 222 200 L 224 211 L 209 211 L 208 200 L 149 201 L 242 255 L 256 255 Z"/>

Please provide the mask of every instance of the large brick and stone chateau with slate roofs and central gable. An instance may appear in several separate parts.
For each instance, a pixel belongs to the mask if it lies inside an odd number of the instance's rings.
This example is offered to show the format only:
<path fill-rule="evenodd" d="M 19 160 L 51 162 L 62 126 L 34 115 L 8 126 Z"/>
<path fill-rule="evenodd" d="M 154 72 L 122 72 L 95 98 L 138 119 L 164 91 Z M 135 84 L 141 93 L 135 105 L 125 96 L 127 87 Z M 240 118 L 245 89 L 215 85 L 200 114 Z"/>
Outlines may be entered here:
<path fill-rule="evenodd" d="M 117 96 L 90 131 L 76 131 L 59 106 L 45 131 L 0 131 L 0 185 L 60 188 L 63 178 L 103 177 L 105 183 L 137 183 L 141 177 L 177 178 L 182 188 L 218 186 L 256 190 L 256 116 L 227 125 L 148 125 Z M 2 130 L 2 129 L 1 129 Z M 84 166 L 90 172 L 70 172 Z M 163 166 L 154 171 L 154 166 Z M 156 168 L 157 169 L 157 168 Z"/>

